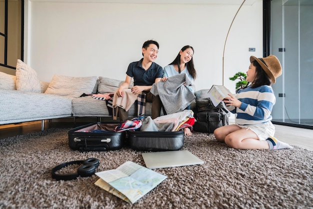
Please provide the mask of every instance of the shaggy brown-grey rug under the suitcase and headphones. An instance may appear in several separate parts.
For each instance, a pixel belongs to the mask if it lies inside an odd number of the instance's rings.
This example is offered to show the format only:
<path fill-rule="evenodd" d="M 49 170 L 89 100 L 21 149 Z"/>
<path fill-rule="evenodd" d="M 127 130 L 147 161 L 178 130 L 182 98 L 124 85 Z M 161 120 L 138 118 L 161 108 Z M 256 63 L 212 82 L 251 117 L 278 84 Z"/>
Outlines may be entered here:
<path fill-rule="evenodd" d="M 131 205 L 94 185 L 96 175 L 51 178 L 57 164 L 88 157 L 100 160 L 96 171 L 128 160 L 144 166 L 142 152 L 130 148 L 71 150 L 68 130 L 49 128 L 0 140 L 0 208 L 313 208 L 312 150 L 237 150 L 212 134 L 194 132 L 182 149 L 204 164 L 154 169 L 167 178 Z"/>

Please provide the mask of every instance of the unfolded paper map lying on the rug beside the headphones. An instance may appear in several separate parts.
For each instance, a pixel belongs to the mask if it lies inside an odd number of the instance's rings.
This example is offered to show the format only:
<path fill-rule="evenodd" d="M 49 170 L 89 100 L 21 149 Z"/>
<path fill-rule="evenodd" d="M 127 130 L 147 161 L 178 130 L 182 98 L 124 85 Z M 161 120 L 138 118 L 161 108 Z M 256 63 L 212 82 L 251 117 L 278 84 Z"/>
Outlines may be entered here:
<path fill-rule="evenodd" d="M 95 174 L 100 177 L 95 181 L 95 185 L 128 203 L 136 202 L 167 178 L 166 175 L 131 161 L 123 163 L 116 169 L 96 172 Z"/>

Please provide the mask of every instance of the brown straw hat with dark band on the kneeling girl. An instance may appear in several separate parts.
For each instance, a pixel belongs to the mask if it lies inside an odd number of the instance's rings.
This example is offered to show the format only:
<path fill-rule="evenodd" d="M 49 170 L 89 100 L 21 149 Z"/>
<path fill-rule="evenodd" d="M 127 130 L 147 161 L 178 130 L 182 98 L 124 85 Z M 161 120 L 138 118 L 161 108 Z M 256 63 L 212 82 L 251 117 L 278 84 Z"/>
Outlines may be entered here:
<path fill-rule="evenodd" d="M 255 56 L 250 56 L 250 62 L 256 60 L 266 72 L 268 77 L 271 79 L 272 83 L 276 82 L 276 77 L 281 75 L 281 65 L 279 60 L 274 55 L 269 55 L 264 58 L 256 58 Z"/>

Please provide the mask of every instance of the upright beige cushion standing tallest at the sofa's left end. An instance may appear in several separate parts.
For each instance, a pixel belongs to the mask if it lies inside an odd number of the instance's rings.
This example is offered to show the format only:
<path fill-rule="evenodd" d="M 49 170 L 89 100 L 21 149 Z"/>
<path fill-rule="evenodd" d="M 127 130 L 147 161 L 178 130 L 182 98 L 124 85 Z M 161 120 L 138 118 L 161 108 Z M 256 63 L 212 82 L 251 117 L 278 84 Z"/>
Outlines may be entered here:
<path fill-rule="evenodd" d="M 22 60 L 16 63 L 16 90 L 40 93 L 40 82 L 37 72 Z"/>

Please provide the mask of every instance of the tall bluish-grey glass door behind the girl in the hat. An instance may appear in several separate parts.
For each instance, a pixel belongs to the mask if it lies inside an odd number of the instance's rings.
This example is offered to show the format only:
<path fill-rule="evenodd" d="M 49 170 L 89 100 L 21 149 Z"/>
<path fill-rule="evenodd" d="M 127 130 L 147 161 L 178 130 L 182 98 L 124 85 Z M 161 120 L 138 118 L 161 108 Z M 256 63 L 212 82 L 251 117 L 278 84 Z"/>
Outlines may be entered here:
<path fill-rule="evenodd" d="M 313 0 L 271 0 L 270 10 L 270 51 L 282 66 L 272 121 L 313 128 Z"/>

